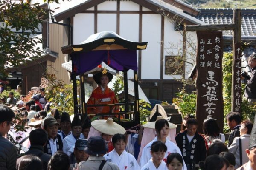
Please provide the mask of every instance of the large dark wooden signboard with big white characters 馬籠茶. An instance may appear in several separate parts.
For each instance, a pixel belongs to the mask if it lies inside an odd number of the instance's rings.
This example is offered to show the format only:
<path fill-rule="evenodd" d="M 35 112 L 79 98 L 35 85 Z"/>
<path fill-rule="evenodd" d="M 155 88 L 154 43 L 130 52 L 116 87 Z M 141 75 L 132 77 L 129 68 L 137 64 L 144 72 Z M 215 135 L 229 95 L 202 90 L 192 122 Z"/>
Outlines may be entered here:
<path fill-rule="evenodd" d="M 198 31 L 197 103 L 196 118 L 198 131 L 202 133 L 204 119 L 213 118 L 223 129 L 224 105 L 222 98 L 222 56 L 221 31 Z"/>

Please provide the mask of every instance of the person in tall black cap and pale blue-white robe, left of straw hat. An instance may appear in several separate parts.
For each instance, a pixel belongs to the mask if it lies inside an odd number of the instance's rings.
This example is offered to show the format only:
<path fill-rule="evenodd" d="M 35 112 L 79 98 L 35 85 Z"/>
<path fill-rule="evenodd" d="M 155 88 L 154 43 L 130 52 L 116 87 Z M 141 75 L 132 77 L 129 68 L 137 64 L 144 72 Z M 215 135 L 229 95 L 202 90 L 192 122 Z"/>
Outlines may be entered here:
<path fill-rule="evenodd" d="M 63 152 L 70 156 L 74 151 L 76 140 L 84 139 L 82 132 L 82 123 L 79 118 L 79 114 L 75 114 L 74 119 L 71 122 L 71 134 L 63 139 Z"/>

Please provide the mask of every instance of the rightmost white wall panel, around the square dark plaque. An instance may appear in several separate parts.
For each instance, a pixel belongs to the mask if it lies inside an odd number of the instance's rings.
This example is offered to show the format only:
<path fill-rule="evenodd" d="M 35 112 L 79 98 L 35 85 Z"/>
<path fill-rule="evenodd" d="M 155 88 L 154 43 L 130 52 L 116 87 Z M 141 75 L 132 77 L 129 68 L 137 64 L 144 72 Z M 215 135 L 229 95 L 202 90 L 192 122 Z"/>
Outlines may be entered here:
<path fill-rule="evenodd" d="M 174 31 L 174 24 L 164 20 L 164 51 L 163 51 L 163 79 L 181 79 L 182 75 L 165 74 L 165 56 L 182 55 L 183 37 L 179 31 Z"/>

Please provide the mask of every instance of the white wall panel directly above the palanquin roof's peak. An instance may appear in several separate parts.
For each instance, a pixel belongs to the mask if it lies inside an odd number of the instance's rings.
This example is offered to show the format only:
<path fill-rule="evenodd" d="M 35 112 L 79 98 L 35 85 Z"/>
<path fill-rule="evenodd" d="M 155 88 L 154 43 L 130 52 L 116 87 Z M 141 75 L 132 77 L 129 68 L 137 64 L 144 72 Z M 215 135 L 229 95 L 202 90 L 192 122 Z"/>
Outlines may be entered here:
<path fill-rule="evenodd" d="M 109 1 L 108 1 L 109 2 Z M 98 32 L 116 32 L 116 14 L 98 14 Z"/>

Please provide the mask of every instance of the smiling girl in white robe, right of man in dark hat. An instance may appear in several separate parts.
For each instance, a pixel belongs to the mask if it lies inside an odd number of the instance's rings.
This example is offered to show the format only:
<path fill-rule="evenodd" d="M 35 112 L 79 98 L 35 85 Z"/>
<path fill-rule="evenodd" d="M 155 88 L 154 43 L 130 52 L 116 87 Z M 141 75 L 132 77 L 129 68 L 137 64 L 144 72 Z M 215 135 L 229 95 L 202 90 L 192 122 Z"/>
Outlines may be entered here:
<path fill-rule="evenodd" d="M 117 133 L 112 137 L 114 150 L 104 155 L 108 162 L 116 164 L 120 170 L 139 170 L 139 164 L 133 155 L 125 151 L 125 136 Z"/>

